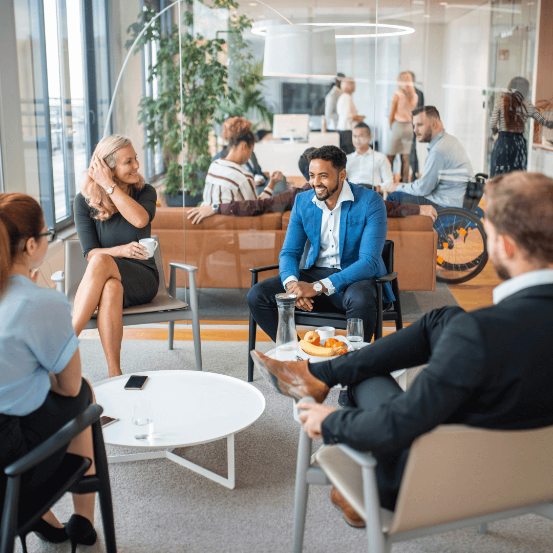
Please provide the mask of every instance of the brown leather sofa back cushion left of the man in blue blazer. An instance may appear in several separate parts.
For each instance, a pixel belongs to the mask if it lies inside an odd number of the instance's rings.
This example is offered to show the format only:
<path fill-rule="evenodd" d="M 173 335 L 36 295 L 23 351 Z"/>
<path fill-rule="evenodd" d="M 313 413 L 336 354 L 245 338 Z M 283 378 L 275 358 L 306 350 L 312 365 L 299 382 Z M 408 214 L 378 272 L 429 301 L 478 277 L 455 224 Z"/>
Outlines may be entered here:
<path fill-rule="evenodd" d="M 188 212 L 191 208 L 186 208 Z M 192 225 L 186 219 L 186 229 L 201 230 L 260 230 L 279 231 L 281 228 L 281 213 L 265 213 L 258 217 L 232 217 L 229 215 L 213 215 L 197 225 Z M 158 207 L 152 221 L 152 229 L 182 229 L 182 207 Z"/>

